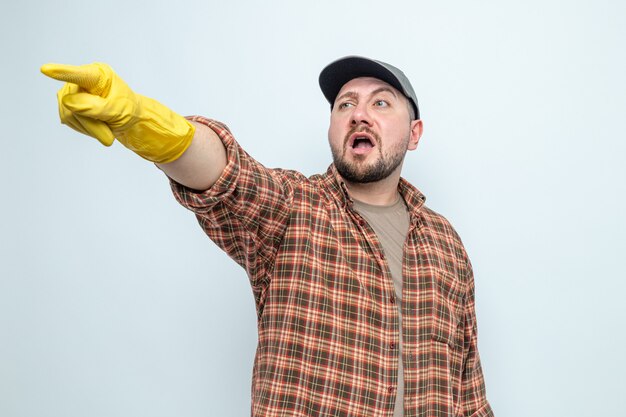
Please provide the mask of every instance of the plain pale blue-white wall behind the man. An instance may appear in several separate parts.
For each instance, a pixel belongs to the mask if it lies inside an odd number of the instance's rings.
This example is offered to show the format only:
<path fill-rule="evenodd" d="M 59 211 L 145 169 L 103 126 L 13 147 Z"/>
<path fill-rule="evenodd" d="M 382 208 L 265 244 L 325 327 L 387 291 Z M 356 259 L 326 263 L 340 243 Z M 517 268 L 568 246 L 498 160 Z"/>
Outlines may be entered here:
<path fill-rule="evenodd" d="M 472 258 L 499 417 L 624 416 L 626 3 L 12 1 L 0 12 L 0 416 L 244 416 L 245 273 L 119 144 L 59 123 L 46 62 L 109 63 L 227 123 L 268 166 L 326 169 L 317 76 L 412 80 L 404 176 Z"/>

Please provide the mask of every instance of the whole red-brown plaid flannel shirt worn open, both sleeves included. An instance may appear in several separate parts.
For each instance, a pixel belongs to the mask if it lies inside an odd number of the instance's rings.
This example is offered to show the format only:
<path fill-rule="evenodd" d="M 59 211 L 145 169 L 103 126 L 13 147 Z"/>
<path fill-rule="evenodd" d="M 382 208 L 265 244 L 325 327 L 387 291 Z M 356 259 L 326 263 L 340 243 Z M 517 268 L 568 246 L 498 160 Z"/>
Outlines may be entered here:
<path fill-rule="evenodd" d="M 393 415 L 404 361 L 405 416 L 493 416 L 477 351 L 472 268 L 448 221 L 404 179 L 402 325 L 380 242 L 334 166 L 306 178 L 267 169 L 228 129 L 220 179 L 177 200 L 248 273 L 258 314 L 252 415 Z M 399 343 L 403 357 L 399 357 Z"/>

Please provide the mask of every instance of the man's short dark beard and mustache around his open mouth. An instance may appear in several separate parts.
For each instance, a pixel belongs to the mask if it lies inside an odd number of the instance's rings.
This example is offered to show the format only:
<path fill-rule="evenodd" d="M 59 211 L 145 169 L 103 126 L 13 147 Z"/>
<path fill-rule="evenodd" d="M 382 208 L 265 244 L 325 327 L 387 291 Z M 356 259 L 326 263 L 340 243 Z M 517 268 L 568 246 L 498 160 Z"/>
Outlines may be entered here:
<path fill-rule="evenodd" d="M 346 144 L 350 136 L 355 132 L 367 132 L 369 133 L 375 140 L 375 148 L 374 151 L 378 153 L 378 157 L 374 162 L 365 163 L 356 161 L 348 161 L 346 158 Z M 377 182 L 384 180 L 389 175 L 391 175 L 404 160 L 404 156 L 407 152 L 407 144 L 409 142 L 409 138 L 405 138 L 401 143 L 399 143 L 394 148 L 390 149 L 390 153 L 384 155 L 381 147 L 380 136 L 376 133 L 368 129 L 367 127 L 360 129 L 353 129 L 346 135 L 346 138 L 343 142 L 343 147 L 341 149 L 335 149 L 332 146 L 330 147 L 330 151 L 333 155 L 333 162 L 335 164 L 335 168 L 341 177 L 352 183 L 357 184 L 367 184 L 371 182 Z"/>

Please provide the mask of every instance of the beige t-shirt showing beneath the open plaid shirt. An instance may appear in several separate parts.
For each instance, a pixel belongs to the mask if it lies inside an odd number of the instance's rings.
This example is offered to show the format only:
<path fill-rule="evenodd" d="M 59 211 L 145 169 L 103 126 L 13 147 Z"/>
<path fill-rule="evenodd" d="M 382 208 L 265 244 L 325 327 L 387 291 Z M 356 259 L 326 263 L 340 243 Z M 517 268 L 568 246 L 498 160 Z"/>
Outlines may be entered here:
<path fill-rule="evenodd" d="M 400 328 L 402 328 L 402 256 L 404 242 L 409 232 L 409 211 L 402 197 L 389 206 L 373 206 L 354 200 L 354 208 L 376 232 L 389 263 L 393 286 L 398 300 Z M 398 395 L 394 417 L 404 415 L 404 367 L 402 366 L 402 331 L 400 331 L 400 360 L 398 361 Z"/>

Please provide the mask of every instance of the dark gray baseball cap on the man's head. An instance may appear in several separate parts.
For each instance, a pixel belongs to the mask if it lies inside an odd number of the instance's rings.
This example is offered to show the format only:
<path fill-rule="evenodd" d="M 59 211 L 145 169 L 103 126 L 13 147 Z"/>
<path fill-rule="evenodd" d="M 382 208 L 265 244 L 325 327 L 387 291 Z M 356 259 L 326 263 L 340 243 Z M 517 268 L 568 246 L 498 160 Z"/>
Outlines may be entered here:
<path fill-rule="evenodd" d="M 320 73 L 319 83 L 324 97 L 332 109 L 341 87 L 353 78 L 373 77 L 393 86 L 406 96 L 415 110 L 415 118 L 420 118 L 417 96 L 411 82 L 402 71 L 393 65 L 362 56 L 346 56 L 328 64 Z"/>

